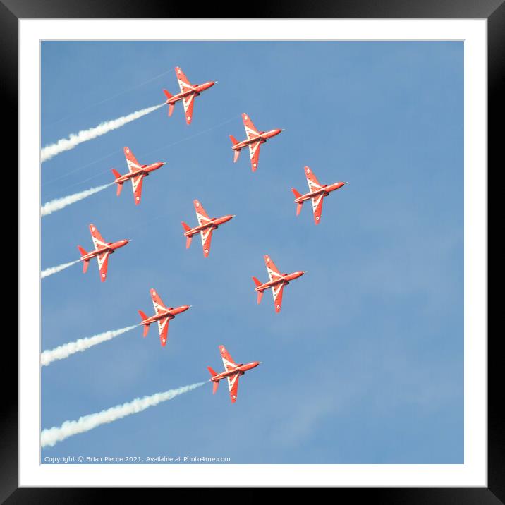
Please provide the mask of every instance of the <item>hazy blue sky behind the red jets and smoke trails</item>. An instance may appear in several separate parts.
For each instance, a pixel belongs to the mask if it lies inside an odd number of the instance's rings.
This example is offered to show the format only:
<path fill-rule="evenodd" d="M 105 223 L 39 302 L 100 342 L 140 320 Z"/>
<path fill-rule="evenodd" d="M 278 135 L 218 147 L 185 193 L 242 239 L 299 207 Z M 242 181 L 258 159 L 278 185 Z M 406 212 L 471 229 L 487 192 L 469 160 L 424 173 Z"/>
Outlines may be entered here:
<path fill-rule="evenodd" d="M 234 405 L 226 384 L 215 396 L 208 384 L 42 458 L 463 463 L 463 43 L 44 42 L 42 145 L 163 102 L 174 66 L 219 80 L 190 126 L 181 104 L 171 118 L 163 107 L 42 164 L 47 202 L 124 173 L 126 145 L 168 163 L 138 207 L 130 187 L 111 187 L 42 219 L 42 269 L 90 249 L 91 222 L 108 241 L 133 239 L 105 283 L 96 262 L 42 280 L 42 349 L 137 323 L 153 311 L 150 288 L 193 308 L 166 348 L 138 328 L 44 367 L 42 428 L 205 380 L 207 365 L 221 370 L 220 343 L 263 363 Z M 255 174 L 247 152 L 232 162 L 242 112 L 286 128 Z M 305 164 L 322 183 L 349 181 L 319 226 L 310 205 L 296 217 Z M 236 214 L 206 259 L 199 240 L 185 250 L 194 198 L 211 216 Z M 256 305 L 251 280 L 267 279 L 266 253 L 282 272 L 308 271 L 278 315 L 270 293 Z"/>

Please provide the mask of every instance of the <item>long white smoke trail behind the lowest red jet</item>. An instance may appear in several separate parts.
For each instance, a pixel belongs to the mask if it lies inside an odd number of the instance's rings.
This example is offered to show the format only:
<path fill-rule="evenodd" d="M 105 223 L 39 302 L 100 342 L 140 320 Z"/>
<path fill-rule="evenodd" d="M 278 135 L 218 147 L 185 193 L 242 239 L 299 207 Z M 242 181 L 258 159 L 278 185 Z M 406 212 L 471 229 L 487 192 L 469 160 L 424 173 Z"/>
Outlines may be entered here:
<path fill-rule="evenodd" d="M 152 396 L 144 396 L 144 398 L 135 398 L 135 400 L 123 405 L 102 410 L 96 414 L 85 415 L 76 421 L 65 421 L 60 427 L 52 427 L 48 430 L 42 430 L 40 435 L 40 443 L 42 447 L 54 446 L 56 442 L 61 442 L 68 437 L 78 433 L 84 433 L 96 428 L 97 426 L 104 425 L 107 422 L 113 422 L 118 419 L 124 418 L 126 415 L 136 414 L 142 412 L 146 408 L 153 407 L 162 401 L 168 401 L 175 398 L 179 394 L 187 393 L 197 387 L 207 384 L 205 382 L 197 382 L 190 386 L 181 386 L 177 389 L 170 389 L 164 393 L 153 394 Z"/>

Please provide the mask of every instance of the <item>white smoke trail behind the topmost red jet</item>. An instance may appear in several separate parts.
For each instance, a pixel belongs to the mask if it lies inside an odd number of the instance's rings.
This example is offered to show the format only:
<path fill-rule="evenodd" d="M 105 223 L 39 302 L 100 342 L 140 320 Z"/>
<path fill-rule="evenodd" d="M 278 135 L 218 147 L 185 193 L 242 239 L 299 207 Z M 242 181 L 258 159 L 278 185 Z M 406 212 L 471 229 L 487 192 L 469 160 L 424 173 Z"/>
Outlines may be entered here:
<path fill-rule="evenodd" d="M 153 107 L 147 107 L 147 109 L 132 112 L 131 114 L 128 114 L 128 116 L 112 119 L 111 121 L 105 121 L 104 123 L 100 123 L 98 126 L 95 126 L 94 128 L 89 128 L 88 130 L 80 130 L 79 133 L 71 133 L 71 135 L 68 138 L 62 138 L 54 144 L 50 144 L 43 147 L 42 150 L 40 151 L 40 161 L 45 162 L 48 159 L 51 159 L 52 157 L 56 156 L 56 154 L 60 154 L 63 151 L 71 150 L 76 145 L 82 144 L 87 140 L 92 140 L 94 138 L 99 137 L 100 135 L 109 133 L 109 131 L 111 130 L 121 128 L 121 126 L 126 125 L 126 123 L 130 123 L 130 121 L 135 121 L 135 119 L 141 118 L 146 114 L 150 114 L 151 112 L 154 112 L 163 106 L 164 103 L 154 105 Z"/>

